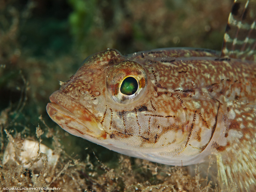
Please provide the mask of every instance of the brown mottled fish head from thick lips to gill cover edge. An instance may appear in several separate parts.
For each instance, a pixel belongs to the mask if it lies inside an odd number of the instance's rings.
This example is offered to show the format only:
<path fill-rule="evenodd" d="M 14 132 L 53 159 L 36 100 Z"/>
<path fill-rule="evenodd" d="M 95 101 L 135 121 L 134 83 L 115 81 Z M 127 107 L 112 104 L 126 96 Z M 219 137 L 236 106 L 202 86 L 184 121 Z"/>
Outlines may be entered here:
<path fill-rule="evenodd" d="M 47 113 L 65 131 L 116 152 L 165 164 L 193 163 L 211 136 L 203 121 L 194 121 L 200 102 L 191 100 L 188 92 L 167 89 L 156 80 L 161 74 L 152 68 L 157 66 L 145 58 L 130 58 L 116 50 L 87 58 L 52 93 Z M 209 121 L 214 123 L 215 119 Z M 192 141 L 196 137 L 200 140 Z"/>

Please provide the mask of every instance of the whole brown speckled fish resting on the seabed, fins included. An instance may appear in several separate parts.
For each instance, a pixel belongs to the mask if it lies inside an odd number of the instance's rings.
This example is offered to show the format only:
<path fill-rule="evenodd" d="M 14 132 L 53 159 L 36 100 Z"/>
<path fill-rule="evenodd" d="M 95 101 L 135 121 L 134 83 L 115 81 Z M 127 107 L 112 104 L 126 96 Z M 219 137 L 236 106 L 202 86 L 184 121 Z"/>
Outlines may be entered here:
<path fill-rule="evenodd" d="M 235 1 L 221 56 L 192 48 L 96 53 L 50 96 L 49 116 L 73 135 L 157 163 L 196 164 L 216 155 L 222 190 L 253 191 L 255 14 L 247 16 L 251 25 L 235 22 L 243 10 L 254 13 L 248 2 Z M 251 32 L 242 41 L 230 28 Z"/>

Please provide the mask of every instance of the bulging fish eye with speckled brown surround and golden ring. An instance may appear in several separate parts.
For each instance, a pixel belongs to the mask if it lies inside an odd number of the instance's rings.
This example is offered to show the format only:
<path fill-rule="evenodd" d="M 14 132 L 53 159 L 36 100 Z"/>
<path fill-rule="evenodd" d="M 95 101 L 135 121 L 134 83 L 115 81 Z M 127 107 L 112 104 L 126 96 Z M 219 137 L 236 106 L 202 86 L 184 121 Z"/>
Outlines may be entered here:
<path fill-rule="evenodd" d="M 128 104 L 141 98 L 147 91 L 146 70 L 134 61 L 121 61 L 106 71 L 107 92 L 119 104 Z"/>

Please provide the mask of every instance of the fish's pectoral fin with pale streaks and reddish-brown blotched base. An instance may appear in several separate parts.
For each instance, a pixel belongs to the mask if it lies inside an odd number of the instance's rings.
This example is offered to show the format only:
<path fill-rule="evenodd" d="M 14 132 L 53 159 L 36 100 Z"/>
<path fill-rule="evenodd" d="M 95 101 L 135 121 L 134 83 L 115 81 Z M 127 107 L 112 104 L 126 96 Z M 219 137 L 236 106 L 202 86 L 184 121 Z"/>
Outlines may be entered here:
<path fill-rule="evenodd" d="M 236 108 L 217 155 L 220 191 L 256 191 L 256 104 Z"/>

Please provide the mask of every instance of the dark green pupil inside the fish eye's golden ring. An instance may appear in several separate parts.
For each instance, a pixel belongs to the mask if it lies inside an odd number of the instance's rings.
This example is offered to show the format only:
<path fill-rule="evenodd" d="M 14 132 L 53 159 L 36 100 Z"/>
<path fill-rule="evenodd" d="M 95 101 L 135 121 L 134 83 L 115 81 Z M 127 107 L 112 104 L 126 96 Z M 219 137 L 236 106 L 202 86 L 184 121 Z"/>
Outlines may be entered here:
<path fill-rule="evenodd" d="M 127 77 L 124 79 L 123 83 L 121 84 L 120 91 L 125 95 L 132 95 L 138 89 L 138 82 L 134 77 Z"/>

